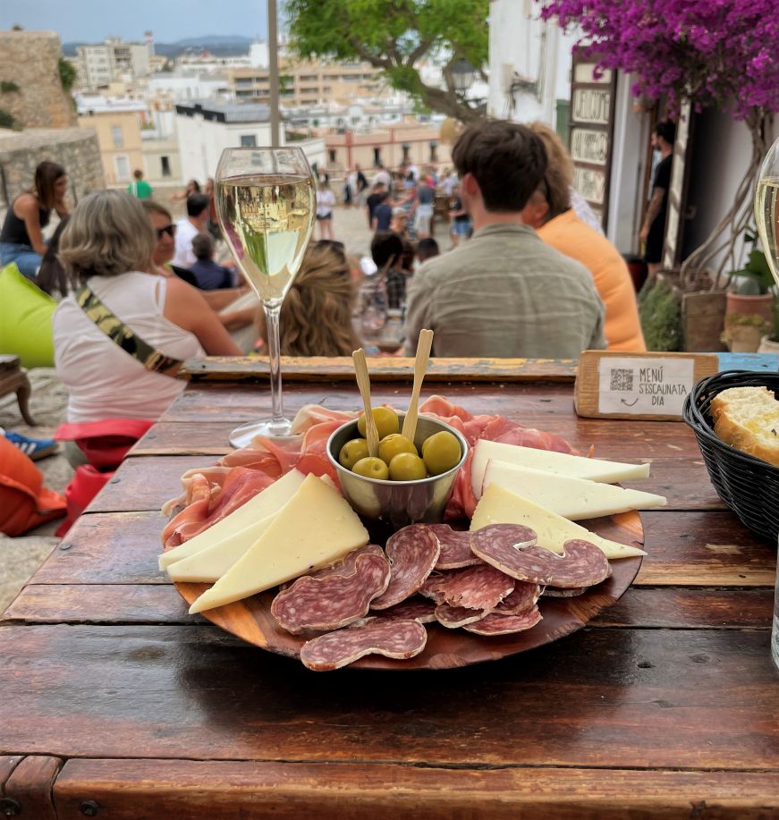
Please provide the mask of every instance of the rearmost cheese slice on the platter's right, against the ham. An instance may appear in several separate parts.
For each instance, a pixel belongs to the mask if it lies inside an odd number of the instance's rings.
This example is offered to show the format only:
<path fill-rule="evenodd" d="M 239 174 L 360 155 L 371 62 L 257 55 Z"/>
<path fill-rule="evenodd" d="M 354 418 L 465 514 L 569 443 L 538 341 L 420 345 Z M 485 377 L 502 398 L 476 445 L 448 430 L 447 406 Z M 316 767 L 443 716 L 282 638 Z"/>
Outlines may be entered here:
<path fill-rule="evenodd" d="M 473 461 L 470 465 L 470 481 L 473 495 L 481 498 L 484 485 L 484 472 L 487 461 L 506 461 L 518 467 L 546 469 L 547 472 L 571 478 L 588 478 L 590 481 L 601 481 L 614 484 L 631 478 L 647 478 L 648 464 L 622 464 L 620 461 L 603 459 L 586 459 L 580 455 L 553 450 L 537 450 L 535 447 L 520 447 L 517 444 L 501 444 L 479 439 L 473 448 Z"/>

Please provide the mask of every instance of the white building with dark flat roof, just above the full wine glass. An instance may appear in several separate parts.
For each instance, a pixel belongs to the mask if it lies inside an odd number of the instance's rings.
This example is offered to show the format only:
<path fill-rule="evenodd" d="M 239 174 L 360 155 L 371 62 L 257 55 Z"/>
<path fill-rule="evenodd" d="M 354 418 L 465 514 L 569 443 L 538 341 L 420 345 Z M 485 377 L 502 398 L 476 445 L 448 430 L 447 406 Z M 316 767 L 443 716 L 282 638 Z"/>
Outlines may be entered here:
<path fill-rule="evenodd" d="M 182 178 L 205 180 L 216 174 L 224 148 L 270 145 L 270 109 L 261 105 L 199 102 L 176 106 Z M 281 135 L 284 145 L 284 132 Z M 326 165 L 324 139 L 296 142 L 311 165 Z"/>

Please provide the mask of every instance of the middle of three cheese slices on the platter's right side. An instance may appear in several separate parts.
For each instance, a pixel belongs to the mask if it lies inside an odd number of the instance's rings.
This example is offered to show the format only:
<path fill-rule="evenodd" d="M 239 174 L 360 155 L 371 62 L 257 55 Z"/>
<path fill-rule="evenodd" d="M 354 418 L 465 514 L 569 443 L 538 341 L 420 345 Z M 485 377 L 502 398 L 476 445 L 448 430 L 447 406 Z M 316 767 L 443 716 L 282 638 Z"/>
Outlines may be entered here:
<path fill-rule="evenodd" d="M 546 470 L 517 467 L 493 459 L 487 462 L 483 486 L 486 489 L 491 484 L 511 490 L 539 507 L 572 521 L 665 506 L 663 495 L 600 484 L 588 478 L 559 476 Z"/>

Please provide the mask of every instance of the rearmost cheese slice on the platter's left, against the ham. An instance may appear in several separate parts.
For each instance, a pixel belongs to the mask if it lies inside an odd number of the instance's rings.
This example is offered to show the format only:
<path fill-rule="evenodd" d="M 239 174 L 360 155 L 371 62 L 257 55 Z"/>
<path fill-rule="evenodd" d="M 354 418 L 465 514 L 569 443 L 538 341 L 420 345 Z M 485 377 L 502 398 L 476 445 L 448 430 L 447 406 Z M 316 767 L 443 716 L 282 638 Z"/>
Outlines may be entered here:
<path fill-rule="evenodd" d="M 189 541 L 174 546 L 172 550 L 160 555 L 160 570 L 165 570 L 165 567 L 170 566 L 173 562 L 181 561 L 182 558 L 199 553 L 200 550 L 207 549 L 209 546 L 219 544 L 226 538 L 241 532 L 241 529 L 249 527 L 250 524 L 255 524 L 278 512 L 292 498 L 292 495 L 295 495 L 304 478 L 306 477 L 300 470 L 291 469 L 250 501 L 242 504 L 236 511 L 221 521 L 217 521 L 213 527 L 207 528 L 194 538 L 190 538 Z"/>

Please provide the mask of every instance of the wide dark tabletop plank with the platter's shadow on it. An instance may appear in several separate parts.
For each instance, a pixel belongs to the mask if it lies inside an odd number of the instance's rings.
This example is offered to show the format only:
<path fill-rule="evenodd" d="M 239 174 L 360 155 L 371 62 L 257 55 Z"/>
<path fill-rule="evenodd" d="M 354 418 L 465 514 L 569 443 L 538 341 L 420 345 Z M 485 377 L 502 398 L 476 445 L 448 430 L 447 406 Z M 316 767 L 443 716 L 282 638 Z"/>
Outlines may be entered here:
<path fill-rule="evenodd" d="M 0 625 L 0 725 L 56 757 L 774 770 L 768 640 L 585 629 L 499 663 L 318 674 L 216 627 Z"/>

